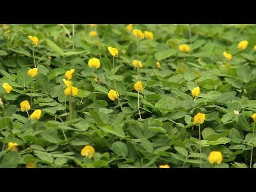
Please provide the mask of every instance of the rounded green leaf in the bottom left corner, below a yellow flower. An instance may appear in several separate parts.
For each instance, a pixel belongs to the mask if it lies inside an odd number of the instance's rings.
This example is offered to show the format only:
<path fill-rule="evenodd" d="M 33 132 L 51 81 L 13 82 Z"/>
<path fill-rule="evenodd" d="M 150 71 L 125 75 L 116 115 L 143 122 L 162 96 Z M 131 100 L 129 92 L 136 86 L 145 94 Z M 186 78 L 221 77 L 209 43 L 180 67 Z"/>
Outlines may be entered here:
<path fill-rule="evenodd" d="M 2 167 L 16 168 L 20 161 L 20 154 L 17 151 L 10 151 L 3 156 Z"/>

